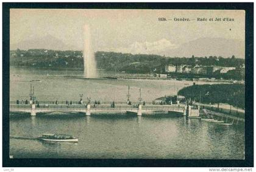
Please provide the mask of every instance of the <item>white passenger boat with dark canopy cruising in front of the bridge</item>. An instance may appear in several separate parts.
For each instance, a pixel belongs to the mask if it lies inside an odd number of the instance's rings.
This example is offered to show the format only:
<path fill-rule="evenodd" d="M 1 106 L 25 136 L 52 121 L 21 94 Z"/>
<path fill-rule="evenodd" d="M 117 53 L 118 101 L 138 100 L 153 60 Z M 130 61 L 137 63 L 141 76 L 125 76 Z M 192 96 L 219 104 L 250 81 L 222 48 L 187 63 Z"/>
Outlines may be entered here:
<path fill-rule="evenodd" d="M 78 138 L 66 134 L 43 134 L 38 139 L 49 142 L 78 142 Z"/>

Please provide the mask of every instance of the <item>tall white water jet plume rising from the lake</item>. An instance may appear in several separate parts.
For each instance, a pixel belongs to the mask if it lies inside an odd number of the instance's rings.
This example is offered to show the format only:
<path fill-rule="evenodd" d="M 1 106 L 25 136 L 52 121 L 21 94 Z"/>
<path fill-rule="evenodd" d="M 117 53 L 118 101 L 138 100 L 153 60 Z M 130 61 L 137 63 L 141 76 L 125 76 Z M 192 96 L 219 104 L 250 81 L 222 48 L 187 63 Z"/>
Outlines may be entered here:
<path fill-rule="evenodd" d="M 88 25 L 84 26 L 84 77 L 97 78 L 96 61 L 91 45 L 91 33 Z"/>

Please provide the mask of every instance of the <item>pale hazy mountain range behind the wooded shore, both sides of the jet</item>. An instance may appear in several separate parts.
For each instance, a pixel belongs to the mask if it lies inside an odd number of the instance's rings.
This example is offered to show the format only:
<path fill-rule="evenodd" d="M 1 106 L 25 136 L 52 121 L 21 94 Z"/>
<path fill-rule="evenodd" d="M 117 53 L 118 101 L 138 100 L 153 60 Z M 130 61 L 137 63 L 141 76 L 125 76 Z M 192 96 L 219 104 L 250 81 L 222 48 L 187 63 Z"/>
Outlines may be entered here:
<path fill-rule="evenodd" d="M 115 47 L 113 49 L 103 49 L 105 51 L 121 53 L 145 53 L 165 55 L 166 57 L 205 57 L 221 56 L 244 58 L 245 43 L 242 40 L 232 40 L 226 38 L 198 38 L 180 45 L 172 44 L 171 41 L 162 39 L 154 42 L 135 42 L 127 47 Z M 52 35 L 41 38 L 20 41 L 10 44 L 10 49 L 52 49 L 52 50 L 81 50 L 80 47 L 66 44 L 62 40 Z"/>

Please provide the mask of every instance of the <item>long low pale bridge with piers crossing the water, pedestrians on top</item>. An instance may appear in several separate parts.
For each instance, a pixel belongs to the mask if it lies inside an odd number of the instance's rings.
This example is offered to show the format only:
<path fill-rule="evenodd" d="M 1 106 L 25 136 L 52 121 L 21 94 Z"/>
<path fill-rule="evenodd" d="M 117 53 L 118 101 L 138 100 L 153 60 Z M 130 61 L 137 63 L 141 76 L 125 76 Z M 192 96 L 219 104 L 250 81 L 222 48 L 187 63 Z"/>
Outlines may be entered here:
<path fill-rule="evenodd" d="M 96 114 L 97 112 L 131 112 L 141 116 L 148 112 L 177 112 L 181 115 L 199 116 L 199 109 L 196 109 L 198 112 L 193 112 L 189 106 L 185 105 L 125 105 L 124 103 L 115 105 L 114 107 L 110 106 L 110 103 L 107 105 L 40 105 L 35 104 L 31 105 L 16 105 L 10 104 L 10 112 L 27 112 L 30 115 L 36 115 L 37 113 L 44 112 L 84 112 L 85 115 Z"/>

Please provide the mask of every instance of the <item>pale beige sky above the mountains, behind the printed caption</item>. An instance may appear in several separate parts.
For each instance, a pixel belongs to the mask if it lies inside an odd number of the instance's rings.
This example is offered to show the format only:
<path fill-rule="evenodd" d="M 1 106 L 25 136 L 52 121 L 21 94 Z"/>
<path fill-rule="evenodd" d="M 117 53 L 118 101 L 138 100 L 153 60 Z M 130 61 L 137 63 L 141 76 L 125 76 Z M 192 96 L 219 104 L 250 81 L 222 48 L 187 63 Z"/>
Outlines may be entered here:
<path fill-rule="evenodd" d="M 174 21 L 174 18 L 191 21 Z M 197 18 L 234 21 L 197 21 Z M 243 10 L 11 9 L 10 44 L 52 35 L 82 50 L 83 29 L 88 25 L 95 51 L 154 53 L 199 38 L 244 41 L 244 24 Z"/>

